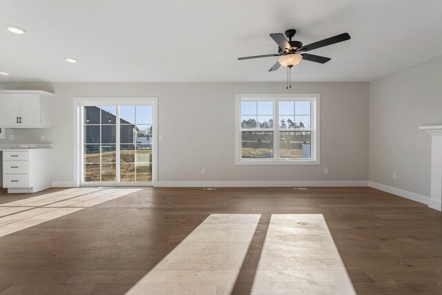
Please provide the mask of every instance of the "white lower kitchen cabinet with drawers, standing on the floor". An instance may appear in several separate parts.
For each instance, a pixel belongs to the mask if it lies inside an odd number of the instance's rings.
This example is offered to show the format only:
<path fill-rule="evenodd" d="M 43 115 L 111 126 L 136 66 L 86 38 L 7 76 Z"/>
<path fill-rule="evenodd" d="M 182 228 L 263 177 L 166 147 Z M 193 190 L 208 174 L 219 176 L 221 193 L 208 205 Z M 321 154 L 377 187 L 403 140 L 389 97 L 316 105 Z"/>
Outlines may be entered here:
<path fill-rule="evenodd" d="M 4 149 L 3 188 L 35 193 L 52 185 L 52 149 Z"/>

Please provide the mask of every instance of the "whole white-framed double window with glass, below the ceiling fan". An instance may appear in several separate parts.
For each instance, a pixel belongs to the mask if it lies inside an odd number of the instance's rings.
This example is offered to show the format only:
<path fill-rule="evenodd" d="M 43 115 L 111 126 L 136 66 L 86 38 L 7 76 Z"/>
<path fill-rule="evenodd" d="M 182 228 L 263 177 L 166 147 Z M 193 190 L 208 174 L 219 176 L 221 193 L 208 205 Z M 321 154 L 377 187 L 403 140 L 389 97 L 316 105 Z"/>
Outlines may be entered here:
<path fill-rule="evenodd" d="M 237 95 L 236 164 L 319 164 L 319 95 Z"/>

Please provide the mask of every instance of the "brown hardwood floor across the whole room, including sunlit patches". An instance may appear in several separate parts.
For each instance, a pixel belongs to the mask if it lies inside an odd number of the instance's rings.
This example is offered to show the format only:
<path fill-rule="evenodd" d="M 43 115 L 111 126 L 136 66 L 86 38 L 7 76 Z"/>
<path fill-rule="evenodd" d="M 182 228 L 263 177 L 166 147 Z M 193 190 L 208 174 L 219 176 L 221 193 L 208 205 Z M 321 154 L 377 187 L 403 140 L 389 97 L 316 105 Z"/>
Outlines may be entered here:
<path fill-rule="evenodd" d="M 84 190 L 0 189 L 0 294 L 442 294 L 442 214 L 376 189 Z"/>

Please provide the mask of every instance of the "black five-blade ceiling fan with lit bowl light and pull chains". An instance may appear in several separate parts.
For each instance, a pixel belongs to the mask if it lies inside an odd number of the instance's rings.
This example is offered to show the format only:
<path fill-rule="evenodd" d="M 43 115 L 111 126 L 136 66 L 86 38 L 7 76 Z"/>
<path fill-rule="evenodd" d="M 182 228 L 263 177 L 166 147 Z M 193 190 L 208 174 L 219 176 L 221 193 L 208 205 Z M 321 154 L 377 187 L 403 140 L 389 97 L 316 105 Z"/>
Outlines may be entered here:
<path fill-rule="evenodd" d="M 330 60 L 329 57 L 321 57 L 319 55 L 310 55 L 308 53 L 305 53 L 310 50 L 318 49 L 324 46 L 329 46 L 332 44 L 336 44 L 342 41 L 349 40 L 351 37 L 350 35 L 345 32 L 340 35 L 336 35 L 334 37 L 330 37 L 327 39 L 323 39 L 321 41 L 317 41 L 314 43 L 311 43 L 309 45 L 303 46 L 302 42 L 300 41 L 291 41 L 291 38 L 293 38 L 296 34 L 295 29 L 290 29 L 285 31 L 285 36 L 289 38 L 285 38 L 284 35 L 281 33 L 275 33 L 270 34 L 271 39 L 278 44 L 278 53 L 277 54 L 271 54 L 271 55 L 255 55 L 251 57 L 239 57 L 238 60 L 244 60 L 244 59 L 256 59 L 261 57 L 279 57 L 276 64 L 274 64 L 270 69 L 269 72 L 273 72 L 273 70 L 278 70 L 280 66 L 287 67 L 287 89 L 291 88 L 291 85 L 289 87 L 289 77 L 291 77 L 291 67 L 296 66 L 300 63 L 302 59 L 305 59 L 307 61 L 314 61 L 319 64 L 325 64 L 327 61 Z"/>

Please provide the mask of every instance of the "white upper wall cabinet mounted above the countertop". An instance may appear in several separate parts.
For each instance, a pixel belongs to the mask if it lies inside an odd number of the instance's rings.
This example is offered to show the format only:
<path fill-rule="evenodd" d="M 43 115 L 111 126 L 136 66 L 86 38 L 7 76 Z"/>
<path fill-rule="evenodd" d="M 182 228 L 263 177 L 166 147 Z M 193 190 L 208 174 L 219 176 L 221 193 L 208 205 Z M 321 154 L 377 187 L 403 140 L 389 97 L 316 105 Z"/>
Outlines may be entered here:
<path fill-rule="evenodd" d="M 46 91 L 0 91 L 0 127 L 52 128 L 52 98 Z"/>

